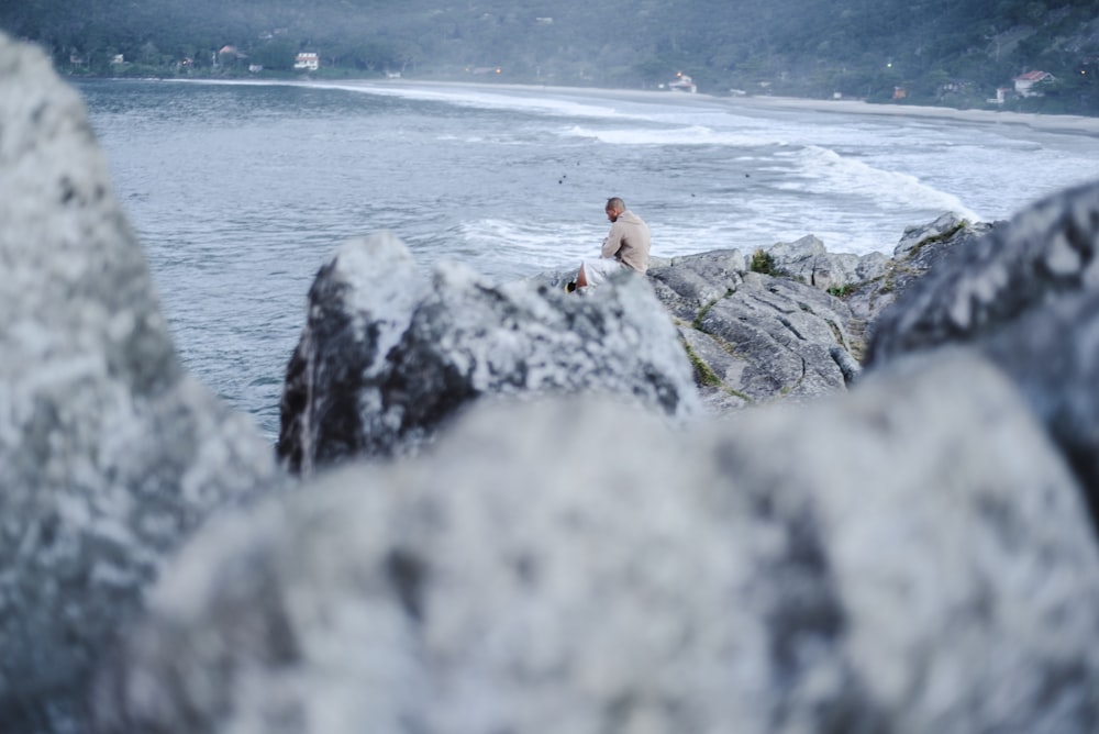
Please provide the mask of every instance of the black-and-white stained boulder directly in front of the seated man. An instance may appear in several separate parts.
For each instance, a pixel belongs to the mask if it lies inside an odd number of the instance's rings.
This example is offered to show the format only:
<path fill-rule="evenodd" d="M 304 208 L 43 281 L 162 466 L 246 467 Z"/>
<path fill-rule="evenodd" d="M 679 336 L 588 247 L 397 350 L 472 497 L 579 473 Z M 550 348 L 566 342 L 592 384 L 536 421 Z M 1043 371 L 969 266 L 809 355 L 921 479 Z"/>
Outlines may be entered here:
<path fill-rule="evenodd" d="M 424 288 L 388 234 L 341 247 L 310 291 L 287 368 L 279 455 L 292 471 L 417 451 L 481 397 L 607 392 L 684 421 L 699 409 L 675 327 L 644 278 L 568 296 L 436 266 Z"/>

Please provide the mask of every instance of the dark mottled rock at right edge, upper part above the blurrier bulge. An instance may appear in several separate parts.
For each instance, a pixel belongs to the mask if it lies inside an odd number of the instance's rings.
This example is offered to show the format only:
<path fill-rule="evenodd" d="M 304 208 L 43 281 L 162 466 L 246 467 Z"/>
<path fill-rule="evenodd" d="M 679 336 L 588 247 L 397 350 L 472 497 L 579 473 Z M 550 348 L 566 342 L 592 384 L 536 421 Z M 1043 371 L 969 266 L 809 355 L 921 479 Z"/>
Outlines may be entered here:
<path fill-rule="evenodd" d="M 1099 182 L 1029 207 L 955 247 L 882 313 L 867 364 L 988 335 L 1063 293 L 1099 288 Z"/>

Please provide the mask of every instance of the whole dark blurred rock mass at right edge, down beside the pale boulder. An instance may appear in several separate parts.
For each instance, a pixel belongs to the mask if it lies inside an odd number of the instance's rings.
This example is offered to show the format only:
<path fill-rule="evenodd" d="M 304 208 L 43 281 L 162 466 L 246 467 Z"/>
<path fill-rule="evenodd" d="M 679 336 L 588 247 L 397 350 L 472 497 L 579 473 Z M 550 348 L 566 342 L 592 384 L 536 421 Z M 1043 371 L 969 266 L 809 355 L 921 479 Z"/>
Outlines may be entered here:
<path fill-rule="evenodd" d="M 881 315 L 868 364 L 957 343 L 1011 375 L 1070 461 L 1099 529 L 1099 182 L 953 249 Z"/>

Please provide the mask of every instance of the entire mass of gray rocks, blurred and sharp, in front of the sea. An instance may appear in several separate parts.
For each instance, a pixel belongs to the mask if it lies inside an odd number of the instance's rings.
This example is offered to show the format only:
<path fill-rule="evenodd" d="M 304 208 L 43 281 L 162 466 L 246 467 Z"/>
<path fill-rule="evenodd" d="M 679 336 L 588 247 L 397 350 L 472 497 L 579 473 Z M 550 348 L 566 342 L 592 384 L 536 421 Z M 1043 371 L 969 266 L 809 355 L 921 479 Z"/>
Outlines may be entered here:
<path fill-rule="evenodd" d="M 1094 731 L 1099 182 L 579 297 L 346 243 L 276 457 L 107 170 L 0 34 L 0 731 Z"/>

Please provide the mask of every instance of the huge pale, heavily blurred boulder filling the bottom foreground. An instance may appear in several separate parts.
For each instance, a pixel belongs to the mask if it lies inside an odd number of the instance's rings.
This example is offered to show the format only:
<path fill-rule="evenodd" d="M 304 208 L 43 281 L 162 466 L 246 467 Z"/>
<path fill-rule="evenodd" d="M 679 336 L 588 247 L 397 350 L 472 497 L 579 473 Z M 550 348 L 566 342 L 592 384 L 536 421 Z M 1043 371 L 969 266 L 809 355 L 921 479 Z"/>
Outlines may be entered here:
<path fill-rule="evenodd" d="M 737 418 L 482 404 L 415 461 L 225 518 L 96 731 L 1094 731 L 1099 558 L 995 368 Z"/>

